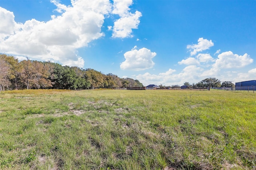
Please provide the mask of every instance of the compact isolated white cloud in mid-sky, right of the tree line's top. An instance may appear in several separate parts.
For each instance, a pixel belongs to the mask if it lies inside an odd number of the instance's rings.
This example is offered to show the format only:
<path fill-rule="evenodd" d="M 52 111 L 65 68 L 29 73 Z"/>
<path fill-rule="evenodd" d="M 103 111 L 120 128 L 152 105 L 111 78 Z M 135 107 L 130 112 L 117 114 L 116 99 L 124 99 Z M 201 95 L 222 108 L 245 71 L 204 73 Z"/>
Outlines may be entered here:
<path fill-rule="evenodd" d="M 124 53 L 126 60 L 120 65 L 122 70 L 146 70 L 154 66 L 152 58 L 156 56 L 156 53 L 146 48 L 139 50 L 136 48 L 135 46 L 131 51 Z"/>

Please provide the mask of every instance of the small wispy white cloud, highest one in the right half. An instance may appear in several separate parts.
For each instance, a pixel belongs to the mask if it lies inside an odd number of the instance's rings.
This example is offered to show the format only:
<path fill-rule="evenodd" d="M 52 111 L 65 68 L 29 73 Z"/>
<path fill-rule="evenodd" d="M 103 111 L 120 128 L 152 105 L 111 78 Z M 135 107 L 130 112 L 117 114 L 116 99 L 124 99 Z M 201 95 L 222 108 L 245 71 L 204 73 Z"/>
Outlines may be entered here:
<path fill-rule="evenodd" d="M 199 38 L 198 39 L 198 44 L 193 44 L 193 45 L 187 45 L 187 49 L 193 50 L 190 52 L 190 55 L 196 55 L 196 53 L 209 49 L 212 47 L 214 43 L 212 40 L 204 39 L 204 38 Z"/>

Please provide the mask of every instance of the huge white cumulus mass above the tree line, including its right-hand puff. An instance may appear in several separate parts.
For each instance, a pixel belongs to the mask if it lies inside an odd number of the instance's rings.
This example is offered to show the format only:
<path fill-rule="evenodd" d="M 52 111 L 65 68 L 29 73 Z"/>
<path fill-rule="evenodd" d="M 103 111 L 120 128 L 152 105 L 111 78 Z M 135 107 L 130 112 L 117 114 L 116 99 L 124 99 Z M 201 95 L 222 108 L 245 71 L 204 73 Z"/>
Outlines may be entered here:
<path fill-rule="evenodd" d="M 104 36 L 101 28 L 106 16 L 120 16 L 114 27 L 108 26 L 113 37 L 132 37 L 132 29 L 140 23 L 141 13 L 129 12 L 132 0 L 114 0 L 113 4 L 109 0 L 71 0 L 70 6 L 59 0 L 50 2 L 60 15 L 45 22 L 31 19 L 16 23 L 13 12 L 0 7 L 1 53 L 83 67 L 84 60 L 76 49 Z"/>

